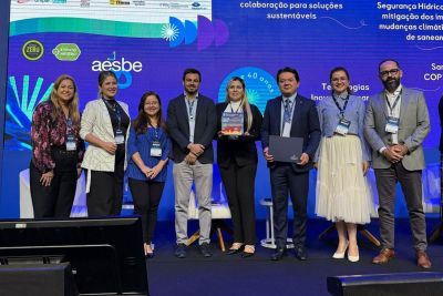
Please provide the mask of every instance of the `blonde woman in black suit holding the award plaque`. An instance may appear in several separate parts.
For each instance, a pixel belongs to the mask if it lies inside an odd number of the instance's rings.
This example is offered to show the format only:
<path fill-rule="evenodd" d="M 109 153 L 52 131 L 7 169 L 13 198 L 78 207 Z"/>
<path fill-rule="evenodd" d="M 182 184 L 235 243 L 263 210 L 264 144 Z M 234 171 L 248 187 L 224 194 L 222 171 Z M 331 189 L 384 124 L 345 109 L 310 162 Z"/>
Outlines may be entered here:
<path fill-rule="evenodd" d="M 217 110 L 217 164 L 225 185 L 234 225 L 234 244 L 227 254 L 243 251 L 241 257 L 255 253 L 255 177 L 257 147 L 262 116 L 258 108 L 249 104 L 245 82 L 229 80 L 226 102 Z"/>

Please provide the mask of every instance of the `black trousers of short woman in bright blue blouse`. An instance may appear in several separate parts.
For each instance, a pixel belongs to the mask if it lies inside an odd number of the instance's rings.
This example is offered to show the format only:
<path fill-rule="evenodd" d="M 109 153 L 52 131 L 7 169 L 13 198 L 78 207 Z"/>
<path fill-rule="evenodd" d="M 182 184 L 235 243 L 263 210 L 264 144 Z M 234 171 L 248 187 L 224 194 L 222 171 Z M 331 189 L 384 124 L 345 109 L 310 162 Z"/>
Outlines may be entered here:
<path fill-rule="evenodd" d="M 134 201 L 134 214 L 142 216 L 143 241 L 151 244 L 165 182 L 141 181 L 130 177 L 128 184 Z"/>

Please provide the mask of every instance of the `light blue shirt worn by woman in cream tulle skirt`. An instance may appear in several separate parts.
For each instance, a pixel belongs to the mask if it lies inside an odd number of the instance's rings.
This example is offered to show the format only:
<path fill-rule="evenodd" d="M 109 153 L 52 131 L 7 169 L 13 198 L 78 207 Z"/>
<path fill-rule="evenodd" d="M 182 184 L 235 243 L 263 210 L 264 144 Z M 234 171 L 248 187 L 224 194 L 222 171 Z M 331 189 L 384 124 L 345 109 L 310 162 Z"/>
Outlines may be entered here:
<path fill-rule="evenodd" d="M 337 102 L 339 103 L 340 108 L 343 109 L 344 100 L 342 98 L 338 98 Z M 320 101 L 317 110 L 320 120 L 321 135 L 332 136 L 341 118 L 340 110 L 333 102 L 332 96 L 328 96 Z M 365 105 L 363 100 L 360 96 L 349 95 L 349 102 L 344 111 L 344 119 L 351 122 L 348 134 L 356 134 L 360 137 L 363 161 L 370 161 L 369 146 L 363 136 L 364 113 Z M 315 162 L 318 162 L 319 150 L 320 147 L 317 149 Z"/>

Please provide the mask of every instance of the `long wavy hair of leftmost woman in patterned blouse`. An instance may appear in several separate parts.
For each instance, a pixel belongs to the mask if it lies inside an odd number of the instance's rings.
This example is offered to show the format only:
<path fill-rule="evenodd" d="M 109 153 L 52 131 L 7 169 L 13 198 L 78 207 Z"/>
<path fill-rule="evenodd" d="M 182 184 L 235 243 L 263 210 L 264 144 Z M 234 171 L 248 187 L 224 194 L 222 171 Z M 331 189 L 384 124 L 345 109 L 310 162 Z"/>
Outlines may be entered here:
<path fill-rule="evenodd" d="M 80 124 L 78 89 L 76 89 L 74 79 L 66 74 L 62 74 L 55 80 L 54 86 L 52 88 L 52 91 L 51 91 L 50 100 L 55 106 L 54 110 L 52 111 L 52 120 L 55 120 L 55 118 L 58 116 L 58 113 L 61 112 L 61 110 L 62 110 L 62 105 L 60 104 L 59 95 L 56 94 L 56 91 L 59 90 L 60 84 L 64 80 L 70 80 L 72 82 L 72 84 L 74 85 L 74 95 L 68 105 L 68 110 L 69 110 L 69 118 L 72 120 L 72 123 L 78 125 L 78 124 Z"/>

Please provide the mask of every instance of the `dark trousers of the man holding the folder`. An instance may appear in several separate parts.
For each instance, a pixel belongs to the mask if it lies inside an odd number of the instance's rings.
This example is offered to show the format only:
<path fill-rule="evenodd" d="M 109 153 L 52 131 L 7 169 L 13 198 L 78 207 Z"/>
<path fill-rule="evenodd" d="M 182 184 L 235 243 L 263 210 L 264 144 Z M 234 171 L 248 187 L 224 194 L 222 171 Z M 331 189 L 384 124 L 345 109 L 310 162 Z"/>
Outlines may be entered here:
<path fill-rule="evenodd" d="M 288 236 L 288 193 L 293 207 L 292 241 L 296 246 L 305 246 L 309 172 L 296 173 L 287 163 L 276 163 L 270 169 L 270 185 L 274 206 L 274 233 L 278 248 L 286 247 Z"/>

